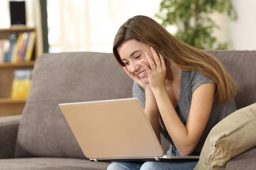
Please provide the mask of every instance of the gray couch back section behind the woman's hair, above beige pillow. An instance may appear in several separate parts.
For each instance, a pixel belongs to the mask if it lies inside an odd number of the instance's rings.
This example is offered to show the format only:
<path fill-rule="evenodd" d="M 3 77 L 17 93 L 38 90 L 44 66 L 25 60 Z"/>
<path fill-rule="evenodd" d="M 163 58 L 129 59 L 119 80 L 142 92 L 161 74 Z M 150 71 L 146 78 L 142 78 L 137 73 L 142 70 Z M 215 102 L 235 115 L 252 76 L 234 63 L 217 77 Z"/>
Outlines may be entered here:
<path fill-rule="evenodd" d="M 256 51 L 207 50 L 221 60 L 239 86 L 235 96 L 236 108 L 241 109 L 256 102 Z"/>

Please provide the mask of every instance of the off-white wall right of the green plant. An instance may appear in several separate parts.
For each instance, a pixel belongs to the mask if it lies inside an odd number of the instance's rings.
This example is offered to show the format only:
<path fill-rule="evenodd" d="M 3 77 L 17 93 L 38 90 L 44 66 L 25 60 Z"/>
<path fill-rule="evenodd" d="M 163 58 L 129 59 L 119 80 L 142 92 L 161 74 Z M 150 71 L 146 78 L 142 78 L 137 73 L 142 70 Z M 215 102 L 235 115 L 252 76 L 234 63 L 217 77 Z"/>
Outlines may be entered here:
<path fill-rule="evenodd" d="M 220 29 L 215 29 L 217 42 L 228 42 L 230 50 L 256 50 L 256 0 L 232 0 L 238 20 L 231 21 L 227 14 L 211 15 Z"/>

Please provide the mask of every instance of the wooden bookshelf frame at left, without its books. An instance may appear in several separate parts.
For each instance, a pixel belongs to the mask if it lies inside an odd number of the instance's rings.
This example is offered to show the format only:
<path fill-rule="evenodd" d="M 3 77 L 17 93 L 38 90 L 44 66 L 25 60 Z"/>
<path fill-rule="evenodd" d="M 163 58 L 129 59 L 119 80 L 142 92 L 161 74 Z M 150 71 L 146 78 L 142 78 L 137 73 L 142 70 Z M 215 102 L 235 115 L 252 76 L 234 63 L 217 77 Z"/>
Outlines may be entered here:
<path fill-rule="evenodd" d="M 21 34 L 24 32 L 35 32 L 36 28 L 14 27 L 9 29 L 0 29 L 0 40 L 9 39 L 10 34 Z M 25 62 L 3 62 L 0 63 L 0 116 L 11 116 L 22 114 L 26 104 L 26 99 L 12 99 L 12 82 L 15 70 L 33 69 L 35 59 L 38 57 L 37 42 L 35 36 L 35 44 L 32 50 L 31 61 Z"/>

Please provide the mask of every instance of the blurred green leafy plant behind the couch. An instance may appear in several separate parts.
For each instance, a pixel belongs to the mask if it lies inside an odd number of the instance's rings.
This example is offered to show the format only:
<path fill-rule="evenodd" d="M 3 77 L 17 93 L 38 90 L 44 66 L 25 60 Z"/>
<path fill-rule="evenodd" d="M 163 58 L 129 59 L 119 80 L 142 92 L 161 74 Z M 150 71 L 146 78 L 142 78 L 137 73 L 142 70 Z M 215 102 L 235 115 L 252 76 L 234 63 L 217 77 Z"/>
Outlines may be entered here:
<path fill-rule="evenodd" d="M 237 14 L 231 0 L 162 0 L 155 15 L 164 27 L 175 25 L 174 34 L 180 40 L 200 49 L 227 49 L 226 43 L 217 43 L 214 28 L 219 28 L 210 14 L 226 13 L 231 20 Z"/>

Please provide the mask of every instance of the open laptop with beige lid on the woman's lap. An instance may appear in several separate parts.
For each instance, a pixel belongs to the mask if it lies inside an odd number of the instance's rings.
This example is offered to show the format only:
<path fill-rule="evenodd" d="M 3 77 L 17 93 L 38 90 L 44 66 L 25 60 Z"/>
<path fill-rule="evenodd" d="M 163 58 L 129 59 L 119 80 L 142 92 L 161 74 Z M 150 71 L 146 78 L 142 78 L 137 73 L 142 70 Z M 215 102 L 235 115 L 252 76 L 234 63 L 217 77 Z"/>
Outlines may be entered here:
<path fill-rule="evenodd" d="M 164 155 L 137 98 L 62 103 L 59 108 L 90 161 L 199 159 Z"/>

